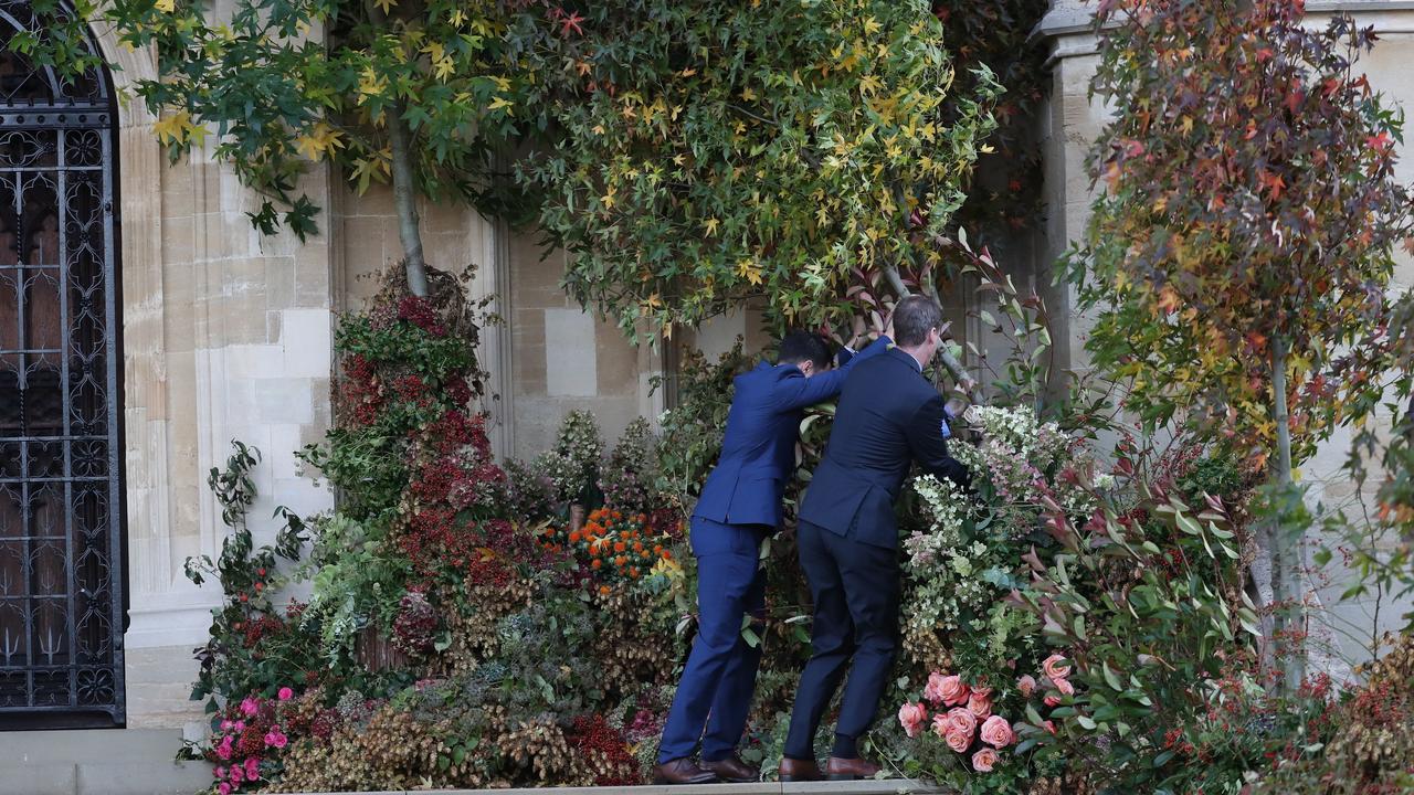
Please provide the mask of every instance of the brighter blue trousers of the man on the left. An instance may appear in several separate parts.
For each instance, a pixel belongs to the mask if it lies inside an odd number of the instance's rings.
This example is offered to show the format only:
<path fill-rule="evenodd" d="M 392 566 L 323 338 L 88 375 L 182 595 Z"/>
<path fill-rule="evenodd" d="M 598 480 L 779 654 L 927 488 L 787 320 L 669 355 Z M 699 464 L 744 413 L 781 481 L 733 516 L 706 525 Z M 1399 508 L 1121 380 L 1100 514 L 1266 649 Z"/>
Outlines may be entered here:
<path fill-rule="evenodd" d="M 769 530 L 693 516 L 697 638 L 663 726 L 659 762 L 693 755 L 699 740 L 703 760 L 724 760 L 741 741 L 761 665 L 759 644 L 747 644 L 741 627 L 745 615 L 764 615 L 766 579 L 756 559 Z"/>

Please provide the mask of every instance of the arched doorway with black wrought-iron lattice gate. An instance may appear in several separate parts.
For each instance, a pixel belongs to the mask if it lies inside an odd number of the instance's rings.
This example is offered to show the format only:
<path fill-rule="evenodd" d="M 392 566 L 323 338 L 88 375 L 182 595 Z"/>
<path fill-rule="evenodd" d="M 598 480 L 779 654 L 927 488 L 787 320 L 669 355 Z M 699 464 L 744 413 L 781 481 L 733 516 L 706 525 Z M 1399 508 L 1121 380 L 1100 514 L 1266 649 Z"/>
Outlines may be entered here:
<path fill-rule="evenodd" d="M 113 91 L 10 51 L 41 25 L 0 0 L 0 727 L 120 726 Z"/>

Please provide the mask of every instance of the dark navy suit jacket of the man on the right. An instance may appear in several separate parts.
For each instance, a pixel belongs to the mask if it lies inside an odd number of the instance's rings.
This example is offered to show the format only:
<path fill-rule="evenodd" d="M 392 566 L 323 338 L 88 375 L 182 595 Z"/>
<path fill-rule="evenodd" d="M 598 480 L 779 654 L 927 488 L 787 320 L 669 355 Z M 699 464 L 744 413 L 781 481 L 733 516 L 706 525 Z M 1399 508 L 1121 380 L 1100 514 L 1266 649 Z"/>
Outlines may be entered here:
<path fill-rule="evenodd" d="M 913 356 L 898 348 L 853 368 L 800 519 L 898 549 L 894 501 L 913 461 L 939 478 L 969 482 L 967 468 L 947 454 L 943 405 Z"/>

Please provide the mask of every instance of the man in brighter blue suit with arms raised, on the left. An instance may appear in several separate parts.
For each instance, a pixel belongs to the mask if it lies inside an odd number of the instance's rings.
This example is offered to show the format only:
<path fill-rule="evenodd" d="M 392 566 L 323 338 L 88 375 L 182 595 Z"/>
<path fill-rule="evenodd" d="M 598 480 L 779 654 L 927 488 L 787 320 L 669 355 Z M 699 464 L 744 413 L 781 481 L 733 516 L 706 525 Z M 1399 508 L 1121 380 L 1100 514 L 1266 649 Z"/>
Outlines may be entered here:
<path fill-rule="evenodd" d="M 741 637 L 742 620 L 762 617 L 761 540 L 781 525 L 781 495 L 795 471 L 805 407 L 840 393 L 850 371 L 888 349 L 888 335 L 830 369 L 816 334 L 781 341 L 776 364 L 738 375 L 721 458 L 691 518 L 697 557 L 697 639 L 667 713 L 655 779 L 660 784 L 745 782 L 759 771 L 737 755 L 756 686 L 759 646 Z M 701 765 L 691 761 L 701 743 Z"/>

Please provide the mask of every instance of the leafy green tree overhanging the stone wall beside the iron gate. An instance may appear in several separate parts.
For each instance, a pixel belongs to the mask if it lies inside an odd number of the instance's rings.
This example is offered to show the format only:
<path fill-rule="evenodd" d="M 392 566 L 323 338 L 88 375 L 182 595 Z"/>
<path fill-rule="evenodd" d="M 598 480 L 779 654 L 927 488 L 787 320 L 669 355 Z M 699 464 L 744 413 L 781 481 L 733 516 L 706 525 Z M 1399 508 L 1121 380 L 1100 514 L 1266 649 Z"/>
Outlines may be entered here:
<path fill-rule="evenodd" d="M 526 8 L 518 8 L 526 6 Z M 516 212 L 498 154 L 527 120 L 527 76 L 506 30 L 527 3 L 495 0 L 35 0 L 41 34 L 11 47 L 65 69 L 93 65 L 71 42 L 110 25 L 124 47 L 156 47 L 158 76 L 134 91 L 170 157 L 212 139 L 212 154 L 262 197 L 252 222 L 301 239 L 318 207 L 300 187 L 329 161 L 362 192 L 392 182 L 409 286 L 427 294 L 417 197 Z"/>

